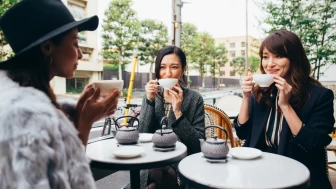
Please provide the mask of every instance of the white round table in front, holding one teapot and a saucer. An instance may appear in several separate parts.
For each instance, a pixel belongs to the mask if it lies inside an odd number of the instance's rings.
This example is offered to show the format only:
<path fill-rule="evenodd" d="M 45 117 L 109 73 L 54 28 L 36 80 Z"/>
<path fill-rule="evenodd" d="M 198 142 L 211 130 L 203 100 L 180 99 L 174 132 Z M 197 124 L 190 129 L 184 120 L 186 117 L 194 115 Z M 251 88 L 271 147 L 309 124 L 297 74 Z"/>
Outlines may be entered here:
<path fill-rule="evenodd" d="M 178 169 L 194 188 L 308 188 L 310 177 L 302 163 L 265 152 L 252 160 L 229 157 L 226 163 L 209 163 L 200 152 L 184 158 Z"/>

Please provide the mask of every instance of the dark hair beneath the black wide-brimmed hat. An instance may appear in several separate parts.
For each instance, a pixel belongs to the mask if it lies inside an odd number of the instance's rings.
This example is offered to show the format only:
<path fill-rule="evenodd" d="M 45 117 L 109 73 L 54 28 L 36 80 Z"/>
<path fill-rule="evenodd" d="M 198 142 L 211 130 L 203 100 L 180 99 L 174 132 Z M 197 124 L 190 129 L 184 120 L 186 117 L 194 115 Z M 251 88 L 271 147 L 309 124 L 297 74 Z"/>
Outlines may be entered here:
<path fill-rule="evenodd" d="M 64 36 L 69 31 L 57 35 L 50 39 L 55 45 L 59 45 Z M 36 46 L 24 54 L 12 58 L 10 61 L 0 63 L 0 70 L 7 71 L 8 77 L 17 82 L 22 87 L 34 87 L 45 93 L 51 100 L 52 104 L 60 109 L 56 102 L 56 95 L 50 87 L 50 57 L 46 57 Z"/>

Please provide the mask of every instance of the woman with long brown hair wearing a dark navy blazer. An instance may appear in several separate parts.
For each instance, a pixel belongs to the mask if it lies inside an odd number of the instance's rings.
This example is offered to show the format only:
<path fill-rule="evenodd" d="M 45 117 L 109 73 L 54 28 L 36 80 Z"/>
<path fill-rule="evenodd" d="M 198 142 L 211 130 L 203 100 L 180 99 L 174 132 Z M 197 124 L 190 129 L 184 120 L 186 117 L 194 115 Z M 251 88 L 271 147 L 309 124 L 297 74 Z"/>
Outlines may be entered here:
<path fill-rule="evenodd" d="M 242 82 L 243 102 L 234 120 L 244 146 L 293 158 L 310 171 L 310 188 L 332 188 L 325 147 L 331 142 L 334 94 L 310 76 L 311 66 L 296 34 L 270 34 L 261 44 L 263 74 L 273 74 L 267 88 Z M 274 170 L 276 171 L 276 170 Z"/>

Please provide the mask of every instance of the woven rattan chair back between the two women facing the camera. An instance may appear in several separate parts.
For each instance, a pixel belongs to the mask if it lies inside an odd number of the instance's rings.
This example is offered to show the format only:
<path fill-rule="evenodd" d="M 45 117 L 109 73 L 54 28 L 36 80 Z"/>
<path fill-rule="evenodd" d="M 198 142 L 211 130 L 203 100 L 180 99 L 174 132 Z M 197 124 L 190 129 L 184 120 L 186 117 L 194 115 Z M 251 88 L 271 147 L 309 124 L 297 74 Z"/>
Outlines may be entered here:
<path fill-rule="evenodd" d="M 221 126 L 227 131 L 228 139 L 230 140 L 231 147 L 234 148 L 235 142 L 234 142 L 234 137 L 233 137 L 232 126 L 230 123 L 230 119 L 225 114 L 225 112 L 221 110 L 220 108 L 215 107 L 210 104 L 204 104 L 204 111 L 207 112 L 211 116 L 214 125 Z M 215 132 L 217 133 L 218 138 L 225 139 L 225 134 L 223 134 L 224 132 L 222 130 L 215 129 Z"/>

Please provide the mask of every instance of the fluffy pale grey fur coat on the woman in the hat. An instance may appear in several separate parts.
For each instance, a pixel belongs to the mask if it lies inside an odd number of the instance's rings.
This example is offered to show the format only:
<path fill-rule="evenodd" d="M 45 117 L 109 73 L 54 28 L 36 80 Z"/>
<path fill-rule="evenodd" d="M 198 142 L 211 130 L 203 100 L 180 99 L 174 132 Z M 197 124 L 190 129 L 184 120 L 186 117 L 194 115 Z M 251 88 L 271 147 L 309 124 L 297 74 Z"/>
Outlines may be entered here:
<path fill-rule="evenodd" d="M 0 71 L 0 188 L 92 189 L 77 130 L 50 99 Z"/>

